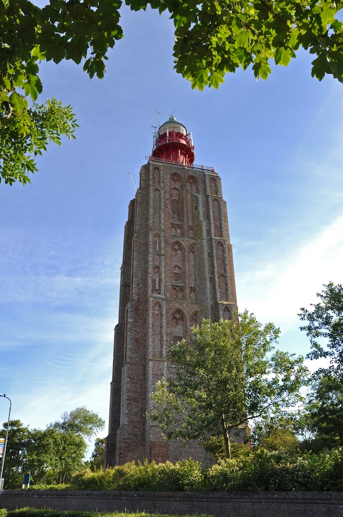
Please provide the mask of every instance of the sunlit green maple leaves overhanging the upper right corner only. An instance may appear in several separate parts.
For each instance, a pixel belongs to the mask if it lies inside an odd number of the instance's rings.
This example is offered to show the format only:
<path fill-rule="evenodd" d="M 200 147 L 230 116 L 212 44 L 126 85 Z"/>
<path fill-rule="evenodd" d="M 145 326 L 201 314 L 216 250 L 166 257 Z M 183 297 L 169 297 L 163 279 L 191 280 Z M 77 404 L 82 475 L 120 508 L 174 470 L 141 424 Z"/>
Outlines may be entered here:
<path fill-rule="evenodd" d="M 343 82 L 343 23 L 335 18 L 343 2 L 212 0 L 187 5 L 190 16 L 184 21 L 187 6 L 167 2 L 176 27 L 175 68 L 192 87 L 217 87 L 210 80 L 213 70 L 223 77 L 250 64 L 256 79 L 267 79 L 272 62 L 287 66 L 301 46 L 317 55 L 312 75 L 321 80 L 330 74 Z"/>

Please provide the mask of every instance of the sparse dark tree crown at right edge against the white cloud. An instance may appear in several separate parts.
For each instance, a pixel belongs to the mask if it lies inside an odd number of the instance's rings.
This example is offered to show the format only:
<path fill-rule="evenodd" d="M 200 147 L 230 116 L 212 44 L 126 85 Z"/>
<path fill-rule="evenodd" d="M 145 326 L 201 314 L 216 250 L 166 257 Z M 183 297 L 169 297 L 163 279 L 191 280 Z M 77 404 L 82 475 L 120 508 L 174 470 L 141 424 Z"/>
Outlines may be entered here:
<path fill-rule="evenodd" d="M 306 331 L 311 343 L 312 350 L 307 357 L 330 357 L 331 367 L 325 372 L 336 375 L 343 373 L 343 287 L 333 282 L 323 286 L 322 292 L 317 293 L 320 301 L 310 304 L 314 309 L 300 309 L 300 320 L 307 322 L 300 329 Z"/>

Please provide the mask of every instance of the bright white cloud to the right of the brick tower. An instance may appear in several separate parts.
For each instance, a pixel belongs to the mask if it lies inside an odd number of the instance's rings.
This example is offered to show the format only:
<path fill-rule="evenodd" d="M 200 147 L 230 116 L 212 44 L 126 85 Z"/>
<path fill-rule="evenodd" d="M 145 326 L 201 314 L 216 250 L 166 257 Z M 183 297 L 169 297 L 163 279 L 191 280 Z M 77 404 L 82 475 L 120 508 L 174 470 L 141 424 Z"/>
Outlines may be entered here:
<path fill-rule="evenodd" d="M 300 307 L 317 302 L 322 284 L 342 281 L 343 215 L 320 229 L 311 241 L 298 244 L 278 262 L 237 278 L 238 303 L 263 322 L 273 321 L 283 331 L 299 328 Z"/>

